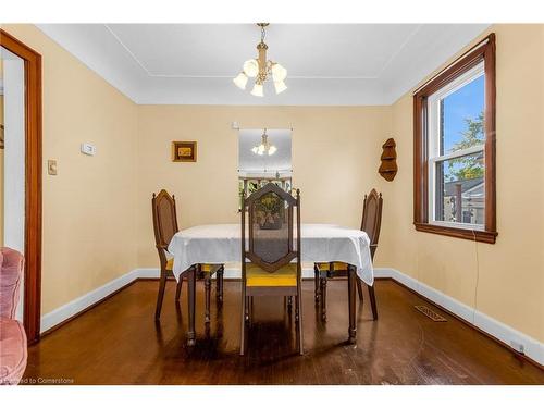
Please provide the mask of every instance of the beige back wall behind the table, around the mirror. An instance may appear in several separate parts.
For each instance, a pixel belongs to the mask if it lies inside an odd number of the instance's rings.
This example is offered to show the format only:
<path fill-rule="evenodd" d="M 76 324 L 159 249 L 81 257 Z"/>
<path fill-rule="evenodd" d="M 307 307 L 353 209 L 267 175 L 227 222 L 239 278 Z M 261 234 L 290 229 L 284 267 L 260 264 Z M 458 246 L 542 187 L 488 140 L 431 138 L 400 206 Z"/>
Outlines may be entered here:
<path fill-rule="evenodd" d="M 293 128 L 293 183 L 304 222 L 359 227 L 362 196 L 376 181 L 390 137 L 387 107 L 143 106 L 138 111 L 138 265 L 157 268 L 151 194 L 178 201 L 180 226 L 238 222 L 237 156 L 243 128 Z M 197 140 L 196 163 L 171 161 L 172 140 Z"/>

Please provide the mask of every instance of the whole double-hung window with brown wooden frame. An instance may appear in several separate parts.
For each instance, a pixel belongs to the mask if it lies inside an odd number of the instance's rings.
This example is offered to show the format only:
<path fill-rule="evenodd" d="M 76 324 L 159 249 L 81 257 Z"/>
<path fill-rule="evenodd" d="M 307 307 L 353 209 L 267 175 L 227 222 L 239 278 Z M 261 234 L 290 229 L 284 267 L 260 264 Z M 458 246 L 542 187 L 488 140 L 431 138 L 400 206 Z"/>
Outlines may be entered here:
<path fill-rule="evenodd" d="M 495 38 L 413 96 L 416 230 L 494 243 Z"/>

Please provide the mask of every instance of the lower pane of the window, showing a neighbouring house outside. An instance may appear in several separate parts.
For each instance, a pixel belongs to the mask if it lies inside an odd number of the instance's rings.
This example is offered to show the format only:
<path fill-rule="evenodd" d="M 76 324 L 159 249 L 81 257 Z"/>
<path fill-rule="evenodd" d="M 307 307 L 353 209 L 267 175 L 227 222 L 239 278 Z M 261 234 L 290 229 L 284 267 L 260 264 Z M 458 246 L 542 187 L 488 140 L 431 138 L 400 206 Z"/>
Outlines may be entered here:
<path fill-rule="evenodd" d="M 435 220 L 483 225 L 483 151 L 435 163 Z"/>

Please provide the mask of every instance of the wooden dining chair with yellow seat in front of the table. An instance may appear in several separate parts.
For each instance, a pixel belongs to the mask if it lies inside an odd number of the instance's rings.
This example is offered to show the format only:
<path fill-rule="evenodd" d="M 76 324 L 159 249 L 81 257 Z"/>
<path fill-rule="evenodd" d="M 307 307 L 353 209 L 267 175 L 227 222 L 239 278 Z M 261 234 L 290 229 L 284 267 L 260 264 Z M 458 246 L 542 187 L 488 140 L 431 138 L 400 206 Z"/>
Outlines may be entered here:
<path fill-rule="evenodd" d="M 293 197 L 269 183 L 248 198 L 243 195 L 240 355 L 246 351 L 249 307 L 259 296 L 295 297 L 297 345 L 304 354 L 301 271 L 299 190 Z"/>

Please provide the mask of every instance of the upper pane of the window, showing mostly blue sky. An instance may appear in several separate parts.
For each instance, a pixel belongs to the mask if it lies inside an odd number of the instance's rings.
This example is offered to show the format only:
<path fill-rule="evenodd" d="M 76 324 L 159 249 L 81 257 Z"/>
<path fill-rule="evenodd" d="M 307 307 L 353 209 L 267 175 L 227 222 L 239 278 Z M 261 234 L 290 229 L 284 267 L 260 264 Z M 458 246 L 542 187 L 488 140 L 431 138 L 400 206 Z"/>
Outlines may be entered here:
<path fill-rule="evenodd" d="M 482 74 L 441 100 L 441 156 L 483 144 L 484 99 Z"/>

